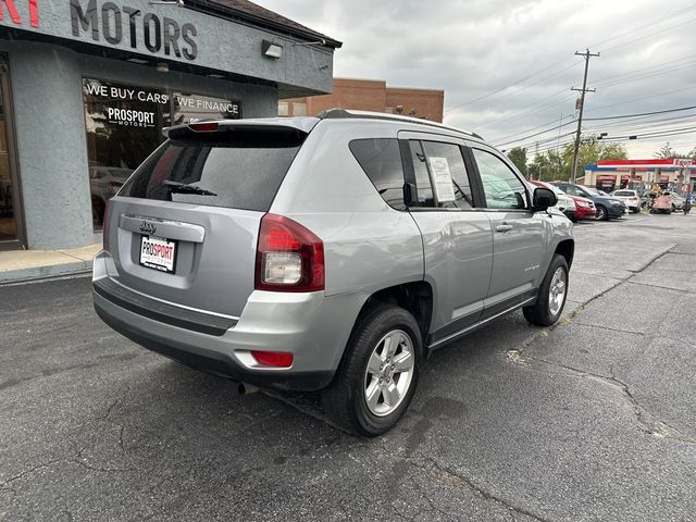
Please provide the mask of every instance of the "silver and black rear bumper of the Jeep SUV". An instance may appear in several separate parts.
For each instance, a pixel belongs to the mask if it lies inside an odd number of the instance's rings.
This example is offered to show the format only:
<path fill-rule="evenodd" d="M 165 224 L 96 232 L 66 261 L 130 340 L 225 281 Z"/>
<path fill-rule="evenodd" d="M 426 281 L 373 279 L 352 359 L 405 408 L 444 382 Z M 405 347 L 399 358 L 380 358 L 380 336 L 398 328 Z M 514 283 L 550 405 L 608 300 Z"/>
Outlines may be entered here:
<path fill-rule="evenodd" d="M 97 254 L 95 310 L 116 332 L 207 373 L 278 389 L 318 390 L 331 383 L 365 299 L 253 291 L 241 315 L 223 324 L 214 314 L 134 293 L 119 284 L 114 270 L 107 252 Z M 251 350 L 290 352 L 293 365 L 261 366 Z"/>

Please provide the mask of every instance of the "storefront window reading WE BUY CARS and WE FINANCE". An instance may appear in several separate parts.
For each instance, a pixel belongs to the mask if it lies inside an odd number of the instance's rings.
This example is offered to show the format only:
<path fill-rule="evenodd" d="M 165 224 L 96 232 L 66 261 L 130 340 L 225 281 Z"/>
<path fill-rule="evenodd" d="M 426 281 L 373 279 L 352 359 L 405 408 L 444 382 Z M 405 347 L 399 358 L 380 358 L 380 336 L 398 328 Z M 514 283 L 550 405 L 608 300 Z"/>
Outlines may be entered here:
<path fill-rule="evenodd" d="M 83 80 L 92 225 L 101 229 L 105 202 L 164 141 L 162 128 L 199 120 L 241 117 L 238 101 L 187 92 Z"/>

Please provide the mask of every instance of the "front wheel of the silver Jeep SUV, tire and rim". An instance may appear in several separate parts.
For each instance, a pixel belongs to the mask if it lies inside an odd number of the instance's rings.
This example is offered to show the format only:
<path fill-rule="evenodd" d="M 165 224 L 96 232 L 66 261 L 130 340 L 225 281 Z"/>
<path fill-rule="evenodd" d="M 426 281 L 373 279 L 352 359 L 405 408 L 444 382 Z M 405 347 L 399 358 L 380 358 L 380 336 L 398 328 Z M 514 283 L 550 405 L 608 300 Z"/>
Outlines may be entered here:
<path fill-rule="evenodd" d="M 550 326 L 561 316 L 568 296 L 568 263 L 556 253 L 544 276 L 536 303 L 524 307 L 524 319 L 537 326 Z"/>

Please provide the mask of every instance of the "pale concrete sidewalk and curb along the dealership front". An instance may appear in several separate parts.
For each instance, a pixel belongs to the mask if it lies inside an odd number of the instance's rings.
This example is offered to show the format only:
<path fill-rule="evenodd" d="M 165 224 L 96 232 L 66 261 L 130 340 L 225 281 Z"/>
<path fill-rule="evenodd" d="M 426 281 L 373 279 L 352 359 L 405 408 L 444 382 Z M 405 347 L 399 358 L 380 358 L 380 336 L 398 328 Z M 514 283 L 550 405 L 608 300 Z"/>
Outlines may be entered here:
<path fill-rule="evenodd" d="M 101 244 L 70 250 L 10 250 L 0 252 L 0 285 L 91 270 Z"/>

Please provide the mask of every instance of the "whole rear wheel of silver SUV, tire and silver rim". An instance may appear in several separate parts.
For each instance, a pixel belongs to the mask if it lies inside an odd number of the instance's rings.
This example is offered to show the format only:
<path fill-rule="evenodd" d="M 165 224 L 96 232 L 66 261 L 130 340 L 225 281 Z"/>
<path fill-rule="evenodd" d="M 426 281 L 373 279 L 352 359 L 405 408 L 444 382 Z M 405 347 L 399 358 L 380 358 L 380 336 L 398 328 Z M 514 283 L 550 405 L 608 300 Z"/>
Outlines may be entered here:
<path fill-rule="evenodd" d="M 386 304 L 368 311 L 358 320 L 334 382 L 322 391 L 326 413 L 348 433 L 382 435 L 411 402 L 421 359 L 413 315 Z"/>

